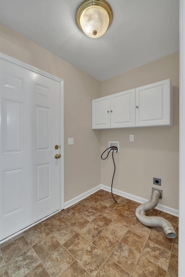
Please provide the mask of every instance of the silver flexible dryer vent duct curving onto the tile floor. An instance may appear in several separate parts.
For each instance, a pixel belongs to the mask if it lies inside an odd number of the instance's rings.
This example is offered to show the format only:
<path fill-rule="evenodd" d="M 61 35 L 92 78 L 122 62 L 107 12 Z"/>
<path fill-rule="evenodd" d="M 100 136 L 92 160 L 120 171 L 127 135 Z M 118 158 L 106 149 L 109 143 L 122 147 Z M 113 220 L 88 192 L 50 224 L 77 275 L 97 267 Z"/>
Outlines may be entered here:
<path fill-rule="evenodd" d="M 136 208 L 136 217 L 142 224 L 146 226 L 162 227 L 166 234 L 166 237 L 174 238 L 176 237 L 176 233 L 173 226 L 168 220 L 159 216 L 145 216 L 145 212 L 150 211 L 157 206 L 159 197 L 160 192 L 158 190 L 153 190 L 151 194 L 151 199 Z"/>

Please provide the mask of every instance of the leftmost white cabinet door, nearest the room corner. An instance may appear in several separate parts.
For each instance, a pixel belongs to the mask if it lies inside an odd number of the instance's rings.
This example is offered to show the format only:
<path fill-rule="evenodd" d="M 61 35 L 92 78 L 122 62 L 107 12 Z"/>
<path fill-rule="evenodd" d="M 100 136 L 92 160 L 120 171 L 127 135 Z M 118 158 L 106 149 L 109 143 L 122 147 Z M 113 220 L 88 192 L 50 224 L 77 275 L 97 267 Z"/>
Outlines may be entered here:
<path fill-rule="evenodd" d="M 110 95 L 92 100 L 92 129 L 110 128 Z"/>

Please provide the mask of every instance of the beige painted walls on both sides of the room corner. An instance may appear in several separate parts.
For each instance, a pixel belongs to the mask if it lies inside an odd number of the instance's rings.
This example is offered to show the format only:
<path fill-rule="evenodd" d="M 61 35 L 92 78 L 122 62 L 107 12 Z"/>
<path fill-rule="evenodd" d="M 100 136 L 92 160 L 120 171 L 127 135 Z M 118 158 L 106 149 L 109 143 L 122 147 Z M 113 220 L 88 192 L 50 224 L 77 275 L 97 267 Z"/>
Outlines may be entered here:
<path fill-rule="evenodd" d="M 0 24 L 0 52 L 64 79 L 64 193 L 68 201 L 99 184 L 111 186 L 112 159 L 101 163 L 108 141 L 119 141 L 114 188 L 149 199 L 153 177 L 162 179 L 159 203 L 178 209 L 179 53 L 173 53 L 102 83 Z M 91 129 L 91 100 L 171 78 L 174 126 Z M 101 91 L 101 95 L 100 95 Z M 134 142 L 129 142 L 134 134 Z M 68 138 L 74 145 L 68 145 Z"/>

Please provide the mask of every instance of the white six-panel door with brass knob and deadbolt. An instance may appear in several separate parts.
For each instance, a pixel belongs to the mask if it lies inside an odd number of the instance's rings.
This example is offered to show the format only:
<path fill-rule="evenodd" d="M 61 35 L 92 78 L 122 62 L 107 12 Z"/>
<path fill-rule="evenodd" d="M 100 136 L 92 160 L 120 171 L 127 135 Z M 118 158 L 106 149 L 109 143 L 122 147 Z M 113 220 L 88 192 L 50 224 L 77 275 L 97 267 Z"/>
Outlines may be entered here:
<path fill-rule="evenodd" d="M 3 239 L 60 209 L 60 82 L 4 60 L 0 70 Z"/>

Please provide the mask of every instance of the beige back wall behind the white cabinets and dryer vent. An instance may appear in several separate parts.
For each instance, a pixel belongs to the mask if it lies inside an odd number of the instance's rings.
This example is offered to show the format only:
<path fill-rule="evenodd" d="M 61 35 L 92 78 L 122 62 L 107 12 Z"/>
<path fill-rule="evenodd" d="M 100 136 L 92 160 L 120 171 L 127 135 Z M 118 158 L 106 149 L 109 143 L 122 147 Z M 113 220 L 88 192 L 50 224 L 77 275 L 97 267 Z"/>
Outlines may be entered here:
<path fill-rule="evenodd" d="M 113 188 L 150 199 L 152 187 L 163 190 L 159 203 L 178 209 L 179 184 L 179 52 L 101 82 L 101 97 L 171 78 L 174 86 L 174 126 L 101 131 L 101 152 L 108 141 L 119 141 L 114 154 Z M 129 141 L 129 134 L 134 141 Z M 101 162 L 101 184 L 111 186 L 113 162 Z M 153 185 L 161 178 L 161 187 Z"/>

